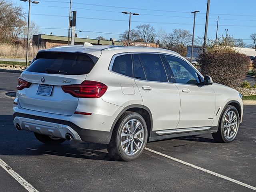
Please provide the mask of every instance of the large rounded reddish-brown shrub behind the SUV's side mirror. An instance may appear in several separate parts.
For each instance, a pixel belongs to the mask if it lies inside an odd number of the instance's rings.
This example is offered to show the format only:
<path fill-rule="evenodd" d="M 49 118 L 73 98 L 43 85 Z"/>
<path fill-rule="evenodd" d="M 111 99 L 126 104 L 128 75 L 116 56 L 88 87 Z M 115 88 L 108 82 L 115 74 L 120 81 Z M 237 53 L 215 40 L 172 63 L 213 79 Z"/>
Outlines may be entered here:
<path fill-rule="evenodd" d="M 203 75 L 216 83 L 237 86 L 249 70 L 250 58 L 230 47 L 216 46 L 200 54 L 198 63 Z"/>

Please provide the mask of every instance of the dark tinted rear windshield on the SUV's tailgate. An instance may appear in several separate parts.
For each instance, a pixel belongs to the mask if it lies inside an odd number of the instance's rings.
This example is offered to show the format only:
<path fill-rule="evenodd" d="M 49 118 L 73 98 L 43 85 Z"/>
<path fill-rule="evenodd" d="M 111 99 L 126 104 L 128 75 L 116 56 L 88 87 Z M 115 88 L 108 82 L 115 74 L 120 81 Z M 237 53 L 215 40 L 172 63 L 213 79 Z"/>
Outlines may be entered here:
<path fill-rule="evenodd" d="M 84 53 L 39 52 L 27 71 L 82 75 L 88 74 L 97 61 L 97 57 Z"/>

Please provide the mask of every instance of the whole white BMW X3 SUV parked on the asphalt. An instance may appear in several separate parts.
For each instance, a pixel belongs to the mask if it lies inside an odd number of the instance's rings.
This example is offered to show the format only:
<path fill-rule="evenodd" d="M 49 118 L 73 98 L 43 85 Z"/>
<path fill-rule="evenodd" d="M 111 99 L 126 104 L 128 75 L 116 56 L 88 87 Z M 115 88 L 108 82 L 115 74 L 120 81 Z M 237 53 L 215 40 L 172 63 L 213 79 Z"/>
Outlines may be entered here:
<path fill-rule="evenodd" d="M 242 95 L 212 83 L 176 52 L 84 45 L 41 50 L 18 78 L 13 122 L 45 144 L 108 144 L 138 158 L 147 142 L 212 133 L 236 138 Z"/>

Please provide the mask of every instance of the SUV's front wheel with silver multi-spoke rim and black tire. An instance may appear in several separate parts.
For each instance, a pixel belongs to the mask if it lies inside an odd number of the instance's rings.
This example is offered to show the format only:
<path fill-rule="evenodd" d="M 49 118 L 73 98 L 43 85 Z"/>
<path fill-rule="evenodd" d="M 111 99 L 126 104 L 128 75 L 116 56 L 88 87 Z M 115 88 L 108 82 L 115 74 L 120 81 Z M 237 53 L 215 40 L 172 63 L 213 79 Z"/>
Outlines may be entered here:
<path fill-rule="evenodd" d="M 232 142 L 237 135 L 240 118 L 237 109 L 228 105 L 220 119 L 218 132 L 212 133 L 214 140 L 222 143 Z"/>

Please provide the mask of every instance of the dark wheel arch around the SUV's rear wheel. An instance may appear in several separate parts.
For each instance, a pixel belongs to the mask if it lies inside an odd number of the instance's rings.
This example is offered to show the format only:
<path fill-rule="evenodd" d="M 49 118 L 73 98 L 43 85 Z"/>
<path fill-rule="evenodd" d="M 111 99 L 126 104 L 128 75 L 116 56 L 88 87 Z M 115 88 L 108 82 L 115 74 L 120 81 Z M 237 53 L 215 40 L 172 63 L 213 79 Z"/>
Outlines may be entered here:
<path fill-rule="evenodd" d="M 118 120 L 120 119 L 120 117 L 122 116 L 122 114 L 126 111 L 132 111 L 132 112 L 136 112 L 138 114 L 140 114 L 147 125 L 147 129 L 148 129 L 148 138 L 151 137 L 152 134 L 152 127 L 153 127 L 153 119 L 152 119 L 152 113 L 150 111 L 149 108 L 147 108 L 144 105 L 139 105 L 139 104 L 134 104 L 134 105 L 129 105 L 126 106 L 119 114 L 118 116 L 115 118 L 112 126 L 111 126 L 111 132 L 113 132 L 114 127 L 116 125 L 116 123 L 118 122 Z"/>

